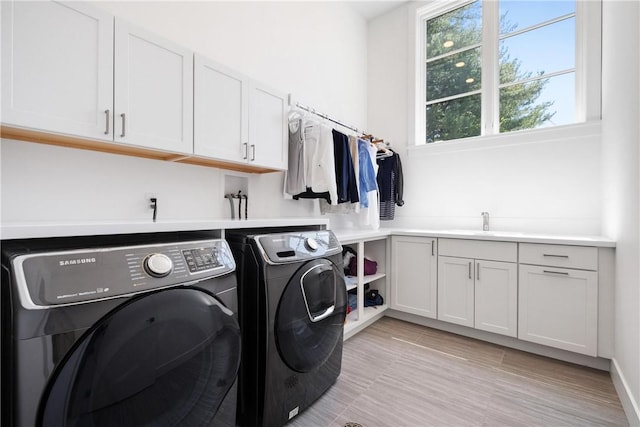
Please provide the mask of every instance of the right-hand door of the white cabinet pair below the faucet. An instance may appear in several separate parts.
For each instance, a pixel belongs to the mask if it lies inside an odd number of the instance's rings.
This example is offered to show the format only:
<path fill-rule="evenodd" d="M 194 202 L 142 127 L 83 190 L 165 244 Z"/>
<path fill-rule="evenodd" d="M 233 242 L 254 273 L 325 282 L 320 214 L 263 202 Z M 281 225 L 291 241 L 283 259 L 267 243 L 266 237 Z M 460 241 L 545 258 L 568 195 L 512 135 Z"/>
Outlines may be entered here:
<path fill-rule="evenodd" d="M 518 335 L 518 268 L 509 262 L 475 262 L 475 328 Z"/>

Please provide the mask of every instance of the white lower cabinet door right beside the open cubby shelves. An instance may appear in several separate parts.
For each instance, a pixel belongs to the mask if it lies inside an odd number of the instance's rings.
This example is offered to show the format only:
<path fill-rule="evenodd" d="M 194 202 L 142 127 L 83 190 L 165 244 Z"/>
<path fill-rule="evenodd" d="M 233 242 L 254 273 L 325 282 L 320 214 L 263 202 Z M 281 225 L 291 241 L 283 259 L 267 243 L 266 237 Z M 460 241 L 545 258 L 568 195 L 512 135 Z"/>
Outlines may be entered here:
<path fill-rule="evenodd" d="M 391 308 L 437 317 L 436 239 L 393 236 Z"/>

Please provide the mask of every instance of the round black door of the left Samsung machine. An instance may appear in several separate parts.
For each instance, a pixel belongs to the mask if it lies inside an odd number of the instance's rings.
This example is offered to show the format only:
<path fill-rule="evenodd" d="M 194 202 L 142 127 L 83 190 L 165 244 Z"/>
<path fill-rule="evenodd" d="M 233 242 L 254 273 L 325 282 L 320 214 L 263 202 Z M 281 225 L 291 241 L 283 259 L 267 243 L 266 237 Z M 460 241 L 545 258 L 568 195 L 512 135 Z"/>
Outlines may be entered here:
<path fill-rule="evenodd" d="M 239 364 L 238 322 L 215 297 L 145 294 L 78 340 L 47 386 L 38 425 L 210 425 L 235 392 Z"/>

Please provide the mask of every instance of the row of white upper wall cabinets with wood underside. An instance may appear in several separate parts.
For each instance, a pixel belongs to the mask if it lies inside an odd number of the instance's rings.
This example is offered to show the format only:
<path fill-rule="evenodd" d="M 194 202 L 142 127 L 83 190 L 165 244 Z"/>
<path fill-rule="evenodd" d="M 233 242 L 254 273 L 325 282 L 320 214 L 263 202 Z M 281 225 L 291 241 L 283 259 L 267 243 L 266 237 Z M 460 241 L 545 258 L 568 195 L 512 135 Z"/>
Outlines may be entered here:
<path fill-rule="evenodd" d="M 75 137 L 73 146 L 101 151 L 287 169 L 285 93 L 86 3 L 1 7 L 8 135 L 31 140 L 37 131 L 53 144 Z"/>

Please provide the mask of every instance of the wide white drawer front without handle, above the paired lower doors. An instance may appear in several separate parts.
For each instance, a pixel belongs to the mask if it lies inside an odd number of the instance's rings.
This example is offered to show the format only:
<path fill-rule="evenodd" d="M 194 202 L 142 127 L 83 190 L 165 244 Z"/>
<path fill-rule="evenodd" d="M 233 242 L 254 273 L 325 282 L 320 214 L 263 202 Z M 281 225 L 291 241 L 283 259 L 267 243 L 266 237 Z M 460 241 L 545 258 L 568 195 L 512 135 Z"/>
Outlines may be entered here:
<path fill-rule="evenodd" d="M 438 239 L 438 255 L 517 262 L 518 244 L 485 240 Z"/>

